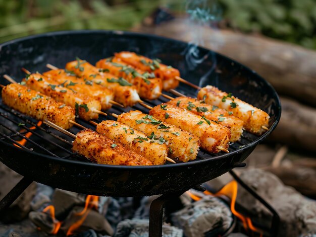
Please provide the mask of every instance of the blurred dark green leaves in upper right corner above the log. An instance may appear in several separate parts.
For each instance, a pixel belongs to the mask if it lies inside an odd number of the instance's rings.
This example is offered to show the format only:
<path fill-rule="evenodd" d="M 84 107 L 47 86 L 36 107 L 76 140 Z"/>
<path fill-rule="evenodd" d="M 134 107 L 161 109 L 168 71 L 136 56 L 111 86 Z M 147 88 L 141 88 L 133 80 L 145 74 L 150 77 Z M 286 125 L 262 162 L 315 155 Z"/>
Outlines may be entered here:
<path fill-rule="evenodd" d="M 316 49 L 315 0 L 218 0 L 228 26 Z"/>

